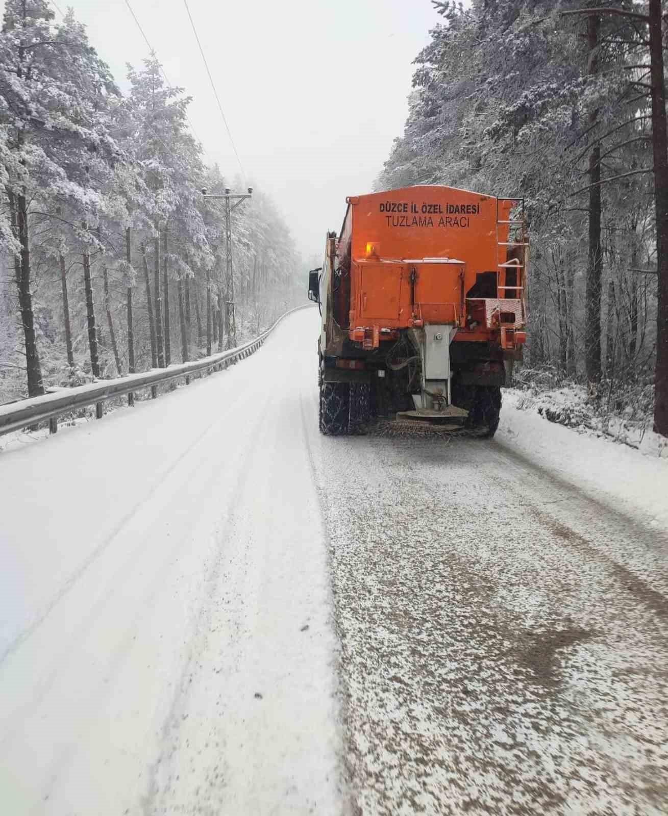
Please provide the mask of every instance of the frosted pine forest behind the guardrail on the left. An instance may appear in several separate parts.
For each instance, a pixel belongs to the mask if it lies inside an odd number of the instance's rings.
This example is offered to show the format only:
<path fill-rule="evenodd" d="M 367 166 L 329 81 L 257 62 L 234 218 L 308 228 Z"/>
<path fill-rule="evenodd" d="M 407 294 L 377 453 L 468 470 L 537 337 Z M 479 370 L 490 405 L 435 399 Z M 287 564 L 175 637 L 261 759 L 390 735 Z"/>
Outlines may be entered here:
<path fill-rule="evenodd" d="M 0 402 L 229 345 L 225 188 L 155 55 L 122 93 L 85 27 L 7 0 L 0 34 Z M 204 197 L 203 189 L 208 196 Z M 268 196 L 231 213 L 236 341 L 301 302 Z M 233 337 L 231 331 L 230 336 Z"/>

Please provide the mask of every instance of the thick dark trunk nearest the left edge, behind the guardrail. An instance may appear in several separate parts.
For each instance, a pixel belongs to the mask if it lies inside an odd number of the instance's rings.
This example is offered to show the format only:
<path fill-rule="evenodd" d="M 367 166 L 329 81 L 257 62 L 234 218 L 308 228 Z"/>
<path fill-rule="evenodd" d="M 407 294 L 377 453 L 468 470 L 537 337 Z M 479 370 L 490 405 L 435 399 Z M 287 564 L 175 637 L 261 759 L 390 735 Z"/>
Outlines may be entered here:
<path fill-rule="evenodd" d="M 12 231 L 21 245 L 20 255 L 14 259 L 16 289 L 19 294 L 19 312 L 23 326 L 25 343 L 25 370 L 28 379 L 28 396 L 38 397 L 44 393 L 42 366 L 39 363 L 35 322 L 33 315 L 33 293 L 30 290 L 30 249 L 28 240 L 28 206 L 25 196 L 15 196 L 7 191 L 10 203 Z"/>

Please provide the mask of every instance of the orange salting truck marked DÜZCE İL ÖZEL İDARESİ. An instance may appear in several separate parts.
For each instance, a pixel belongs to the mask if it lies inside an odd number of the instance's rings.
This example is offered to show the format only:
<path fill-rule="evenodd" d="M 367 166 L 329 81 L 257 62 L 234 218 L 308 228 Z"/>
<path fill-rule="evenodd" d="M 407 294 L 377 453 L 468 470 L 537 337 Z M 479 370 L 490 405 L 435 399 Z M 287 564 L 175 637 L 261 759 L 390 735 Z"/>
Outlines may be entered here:
<path fill-rule="evenodd" d="M 346 201 L 309 276 L 320 431 L 386 419 L 492 437 L 526 340 L 523 200 L 418 185 Z"/>

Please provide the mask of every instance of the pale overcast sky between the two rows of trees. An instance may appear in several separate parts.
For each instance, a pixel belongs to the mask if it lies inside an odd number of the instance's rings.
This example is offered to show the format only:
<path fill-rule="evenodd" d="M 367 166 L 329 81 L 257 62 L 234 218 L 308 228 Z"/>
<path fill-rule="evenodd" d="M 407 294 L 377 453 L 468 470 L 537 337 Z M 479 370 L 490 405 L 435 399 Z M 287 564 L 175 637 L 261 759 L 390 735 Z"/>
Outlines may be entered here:
<path fill-rule="evenodd" d="M 130 0 L 167 77 L 184 86 L 207 160 L 238 171 L 183 0 Z M 117 80 L 147 47 L 124 0 L 58 0 Z M 274 197 L 307 259 L 369 192 L 403 132 L 430 0 L 189 0 L 248 182 Z M 121 82 L 124 85 L 123 82 Z"/>

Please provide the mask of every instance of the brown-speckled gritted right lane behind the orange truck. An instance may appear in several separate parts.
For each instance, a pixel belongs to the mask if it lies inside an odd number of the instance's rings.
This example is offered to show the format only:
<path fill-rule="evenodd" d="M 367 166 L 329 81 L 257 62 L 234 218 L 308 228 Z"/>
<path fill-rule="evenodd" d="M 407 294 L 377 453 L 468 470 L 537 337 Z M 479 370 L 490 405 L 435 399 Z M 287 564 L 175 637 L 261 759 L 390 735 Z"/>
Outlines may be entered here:
<path fill-rule="evenodd" d="M 358 814 L 666 814 L 666 534 L 496 441 L 313 444 Z"/>

